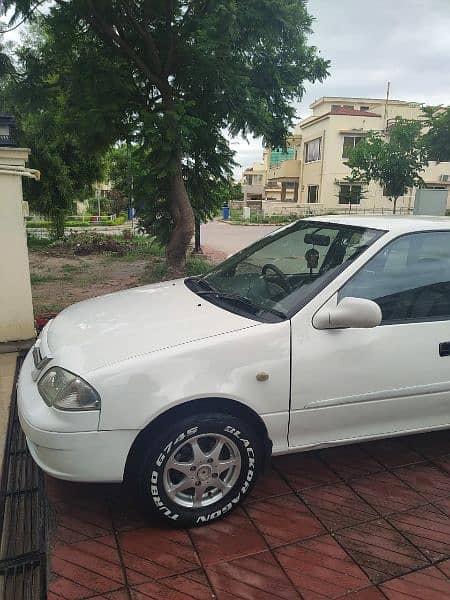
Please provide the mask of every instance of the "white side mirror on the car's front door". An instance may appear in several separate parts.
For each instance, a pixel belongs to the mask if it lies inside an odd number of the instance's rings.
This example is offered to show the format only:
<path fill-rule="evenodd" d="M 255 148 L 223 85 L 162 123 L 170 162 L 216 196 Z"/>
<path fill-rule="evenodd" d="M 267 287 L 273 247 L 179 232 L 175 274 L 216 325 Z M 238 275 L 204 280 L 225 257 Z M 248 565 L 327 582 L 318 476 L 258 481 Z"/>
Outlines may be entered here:
<path fill-rule="evenodd" d="M 321 308 L 313 318 L 316 329 L 368 329 L 381 323 L 381 308 L 366 298 L 343 298 L 336 308 Z"/>

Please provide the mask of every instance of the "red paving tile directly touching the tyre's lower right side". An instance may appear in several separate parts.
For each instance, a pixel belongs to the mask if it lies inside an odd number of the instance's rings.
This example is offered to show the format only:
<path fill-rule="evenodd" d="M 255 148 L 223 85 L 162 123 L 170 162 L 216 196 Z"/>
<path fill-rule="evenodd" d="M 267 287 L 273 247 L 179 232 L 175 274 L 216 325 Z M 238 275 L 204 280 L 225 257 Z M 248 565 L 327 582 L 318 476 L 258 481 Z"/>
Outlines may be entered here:
<path fill-rule="evenodd" d="M 261 534 L 239 508 L 225 519 L 192 529 L 191 536 L 204 565 L 233 560 L 267 549 Z"/>

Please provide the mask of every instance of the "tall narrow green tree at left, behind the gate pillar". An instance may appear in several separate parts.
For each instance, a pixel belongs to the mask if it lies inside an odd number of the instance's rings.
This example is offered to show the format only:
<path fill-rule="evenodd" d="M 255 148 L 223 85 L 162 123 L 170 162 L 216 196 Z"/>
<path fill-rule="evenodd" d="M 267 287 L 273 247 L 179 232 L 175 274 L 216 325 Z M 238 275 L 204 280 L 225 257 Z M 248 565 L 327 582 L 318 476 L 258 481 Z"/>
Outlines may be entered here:
<path fill-rule="evenodd" d="M 64 235 L 74 201 L 86 197 L 101 177 L 103 147 L 86 142 L 83 123 L 66 89 L 67 64 L 52 44 L 52 32 L 36 24 L 16 55 L 14 75 L 3 79 L 5 109 L 16 116 L 18 143 L 30 147 L 30 166 L 42 173 L 39 183 L 26 181 L 25 194 L 37 212 L 50 217 L 53 235 Z"/>

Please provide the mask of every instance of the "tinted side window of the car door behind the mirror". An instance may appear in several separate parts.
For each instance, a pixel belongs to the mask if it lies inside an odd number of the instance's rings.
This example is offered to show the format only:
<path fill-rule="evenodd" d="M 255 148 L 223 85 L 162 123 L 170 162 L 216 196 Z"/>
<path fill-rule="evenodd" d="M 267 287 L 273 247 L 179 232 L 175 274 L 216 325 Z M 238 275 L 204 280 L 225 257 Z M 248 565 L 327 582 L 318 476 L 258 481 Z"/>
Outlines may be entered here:
<path fill-rule="evenodd" d="M 394 240 L 340 290 L 348 296 L 374 300 L 382 323 L 450 319 L 450 232 Z"/>

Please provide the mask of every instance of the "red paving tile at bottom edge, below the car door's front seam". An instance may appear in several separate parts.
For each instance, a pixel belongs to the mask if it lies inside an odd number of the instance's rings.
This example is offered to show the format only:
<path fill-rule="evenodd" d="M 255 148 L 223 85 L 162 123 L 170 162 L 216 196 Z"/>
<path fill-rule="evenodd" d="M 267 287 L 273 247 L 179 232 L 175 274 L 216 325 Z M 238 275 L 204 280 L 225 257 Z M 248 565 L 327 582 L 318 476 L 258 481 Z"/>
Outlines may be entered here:
<path fill-rule="evenodd" d="M 370 582 L 329 535 L 275 550 L 276 557 L 304 600 L 341 598 Z"/>

